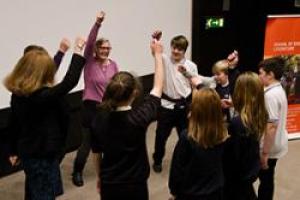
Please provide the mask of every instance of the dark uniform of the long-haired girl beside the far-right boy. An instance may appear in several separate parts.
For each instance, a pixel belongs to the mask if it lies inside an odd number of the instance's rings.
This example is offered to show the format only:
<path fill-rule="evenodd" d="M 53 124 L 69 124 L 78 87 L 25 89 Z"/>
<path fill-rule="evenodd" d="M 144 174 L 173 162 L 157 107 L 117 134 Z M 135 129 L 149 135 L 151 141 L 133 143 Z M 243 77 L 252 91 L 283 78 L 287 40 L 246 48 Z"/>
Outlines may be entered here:
<path fill-rule="evenodd" d="M 229 123 L 230 137 L 225 143 L 224 152 L 224 199 L 254 200 L 256 195 L 253 182 L 260 170 L 259 141 L 235 116 Z"/>

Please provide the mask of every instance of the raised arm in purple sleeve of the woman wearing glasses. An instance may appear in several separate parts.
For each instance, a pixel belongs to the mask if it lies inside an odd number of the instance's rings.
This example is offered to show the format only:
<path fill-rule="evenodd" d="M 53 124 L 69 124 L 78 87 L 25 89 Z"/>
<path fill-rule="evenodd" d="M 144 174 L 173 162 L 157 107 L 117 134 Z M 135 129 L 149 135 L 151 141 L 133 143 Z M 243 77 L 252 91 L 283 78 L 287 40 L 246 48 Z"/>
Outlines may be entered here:
<path fill-rule="evenodd" d="M 86 59 L 93 56 L 94 45 L 97 39 L 99 28 L 104 20 L 104 17 L 105 17 L 105 13 L 103 11 L 97 13 L 96 22 L 90 31 L 89 37 L 86 42 L 86 47 L 84 50 L 84 57 Z"/>

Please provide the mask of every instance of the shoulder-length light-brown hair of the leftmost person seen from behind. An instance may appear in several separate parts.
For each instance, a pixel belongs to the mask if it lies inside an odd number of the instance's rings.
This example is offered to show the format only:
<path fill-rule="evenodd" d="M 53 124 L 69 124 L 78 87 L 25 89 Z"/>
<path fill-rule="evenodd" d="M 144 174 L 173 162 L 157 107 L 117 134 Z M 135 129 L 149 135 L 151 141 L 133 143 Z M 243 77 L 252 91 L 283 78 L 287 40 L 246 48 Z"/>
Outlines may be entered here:
<path fill-rule="evenodd" d="M 46 51 L 32 50 L 18 61 L 13 71 L 5 78 L 5 87 L 17 95 L 30 95 L 34 91 L 51 86 L 56 65 Z"/>

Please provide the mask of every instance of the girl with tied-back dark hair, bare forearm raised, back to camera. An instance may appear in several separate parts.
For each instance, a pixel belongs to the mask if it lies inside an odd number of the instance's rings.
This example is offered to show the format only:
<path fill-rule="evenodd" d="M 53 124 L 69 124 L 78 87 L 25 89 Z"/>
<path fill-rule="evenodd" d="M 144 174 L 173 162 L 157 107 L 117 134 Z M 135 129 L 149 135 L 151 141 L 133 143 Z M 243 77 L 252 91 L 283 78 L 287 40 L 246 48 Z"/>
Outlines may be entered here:
<path fill-rule="evenodd" d="M 142 105 L 131 108 L 137 81 L 119 72 L 108 84 L 102 106 L 93 123 L 92 150 L 102 200 L 147 200 L 149 161 L 146 148 L 148 125 L 155 119 L 163 87 L 162 46 L 151 43 L 155 57 L 154 85 Z"/>

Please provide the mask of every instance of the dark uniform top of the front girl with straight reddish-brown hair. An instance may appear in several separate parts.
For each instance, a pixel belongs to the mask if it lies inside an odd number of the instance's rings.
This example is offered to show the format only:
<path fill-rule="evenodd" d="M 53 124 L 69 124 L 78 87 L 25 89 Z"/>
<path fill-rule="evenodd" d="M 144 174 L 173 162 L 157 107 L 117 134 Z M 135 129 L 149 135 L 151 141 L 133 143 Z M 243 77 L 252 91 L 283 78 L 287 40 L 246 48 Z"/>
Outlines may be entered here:
<path fill-rule="evenodd" d="M 169 176 L 170 193 L 176 200 L 223 199 L 224 143 L 203 148 L 185 131 L 176 144 Z"/>

